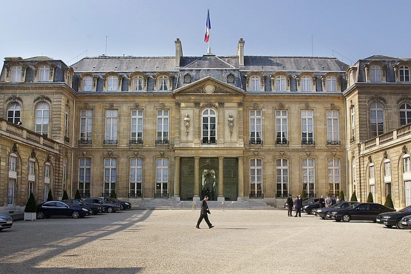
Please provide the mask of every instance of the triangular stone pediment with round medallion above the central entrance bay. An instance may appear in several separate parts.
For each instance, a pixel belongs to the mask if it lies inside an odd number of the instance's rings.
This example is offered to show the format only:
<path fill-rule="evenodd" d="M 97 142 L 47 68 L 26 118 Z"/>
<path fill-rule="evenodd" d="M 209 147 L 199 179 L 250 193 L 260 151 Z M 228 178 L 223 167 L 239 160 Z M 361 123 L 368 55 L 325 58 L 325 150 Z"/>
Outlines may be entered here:
<path fill-rule="evenodd" d="M 245 95 L 245 91 L 209 76 L 175 89 L 173 95 Z"/>

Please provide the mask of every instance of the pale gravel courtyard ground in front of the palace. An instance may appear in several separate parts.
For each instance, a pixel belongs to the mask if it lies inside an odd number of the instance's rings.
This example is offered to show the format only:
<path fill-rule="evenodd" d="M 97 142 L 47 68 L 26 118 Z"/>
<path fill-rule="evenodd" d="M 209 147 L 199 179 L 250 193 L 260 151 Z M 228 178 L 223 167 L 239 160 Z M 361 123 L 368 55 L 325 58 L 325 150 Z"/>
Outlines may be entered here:
<path fill-rule="evenodd" d="M 409 273 L 410 230 L 284 210 L 129 210 L 17 221 L 0 273 Z"/>

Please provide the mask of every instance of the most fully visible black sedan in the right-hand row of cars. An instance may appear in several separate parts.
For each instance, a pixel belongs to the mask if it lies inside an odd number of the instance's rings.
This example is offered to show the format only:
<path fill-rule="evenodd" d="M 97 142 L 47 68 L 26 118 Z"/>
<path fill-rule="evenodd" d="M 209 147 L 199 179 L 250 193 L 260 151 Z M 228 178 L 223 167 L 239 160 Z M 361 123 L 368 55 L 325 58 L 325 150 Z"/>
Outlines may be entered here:
<path fill-rule="evenodd" d="M 379 203 L 354 203 L 348 208 L 340 208 L 327 212 L 331 220 L 349 221 L 377 221 L 377 215 L 382 212 L 393 212 L 395 209 L 380 205 Z"/>

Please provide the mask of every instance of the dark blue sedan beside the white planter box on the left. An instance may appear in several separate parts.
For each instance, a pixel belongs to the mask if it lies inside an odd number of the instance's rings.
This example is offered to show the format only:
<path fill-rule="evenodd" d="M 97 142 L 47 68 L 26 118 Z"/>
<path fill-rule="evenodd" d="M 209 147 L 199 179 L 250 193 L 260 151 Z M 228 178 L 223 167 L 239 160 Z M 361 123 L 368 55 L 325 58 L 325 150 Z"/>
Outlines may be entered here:
<path fill-rule="evenodd" d="M 76 206 L 67 201 L 46 201 L 37 206 L 37 219 L 49 218 L 51 216 L 71 216 L 74 219 L 91 215 L 90 208 Z"/>

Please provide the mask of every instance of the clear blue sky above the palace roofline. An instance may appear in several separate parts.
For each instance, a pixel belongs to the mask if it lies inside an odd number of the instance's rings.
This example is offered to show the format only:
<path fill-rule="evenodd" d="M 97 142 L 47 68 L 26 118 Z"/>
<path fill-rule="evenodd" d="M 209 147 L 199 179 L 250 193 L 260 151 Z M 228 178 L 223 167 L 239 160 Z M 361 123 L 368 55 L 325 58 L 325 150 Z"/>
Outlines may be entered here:
<path fill-rule="evenodd" d="M 0 60 L 48 56 L 67 65 L 88 56 L 411 58 L 409 1 L 395 0 L 0 0 Z"/>

